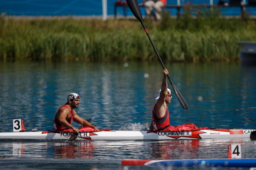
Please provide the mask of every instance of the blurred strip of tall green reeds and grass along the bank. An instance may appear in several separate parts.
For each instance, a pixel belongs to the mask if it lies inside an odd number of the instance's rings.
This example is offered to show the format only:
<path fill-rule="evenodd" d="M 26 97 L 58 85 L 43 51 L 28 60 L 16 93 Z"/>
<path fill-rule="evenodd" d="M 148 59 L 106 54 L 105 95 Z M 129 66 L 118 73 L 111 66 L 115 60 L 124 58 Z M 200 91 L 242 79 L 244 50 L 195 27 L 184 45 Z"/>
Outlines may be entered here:
<path fill-rule="evenodd" d="M 191 15 L 194 14 L 194 15 Z M 238 41 L 256 41 L 256 20 L 223 18 L 219 11 L 168 12 L 160 23 L 144 18 L 162 60 L 239 60 Z M 0 16 L 0 60 L 158 60 L 137 19 Z"/>

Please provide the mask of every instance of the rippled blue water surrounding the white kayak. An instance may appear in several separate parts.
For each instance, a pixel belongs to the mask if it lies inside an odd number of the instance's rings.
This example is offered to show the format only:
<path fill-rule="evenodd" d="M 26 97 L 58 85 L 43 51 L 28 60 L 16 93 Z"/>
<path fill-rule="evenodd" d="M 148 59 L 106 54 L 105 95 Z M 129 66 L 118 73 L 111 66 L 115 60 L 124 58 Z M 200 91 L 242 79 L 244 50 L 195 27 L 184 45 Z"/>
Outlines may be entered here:
<path fill-rule="evenodd" d="M 0 132 L 13 131 L 13 119 L 24 119 L 25 131 L 52 129 L 56 110 L 72 92 L 81 96 L 78 115 L 92 117 L 98 128 L 146 129 L 162 81 L 158 62 L 0 62 L 0 66 Z M 255 66 L 166 62 L 165 67 L 189 106 L 184 111 L 173 96 L 168 106 L 172 126 L 256 129 Z M 227 158 L 229 144 L 248 142 L 0 140 L 0 168 L 150 169 L 124 167 L 121 160 Z M 243 158 L 255 158 L 256 144 L 244 151 Z"/>

